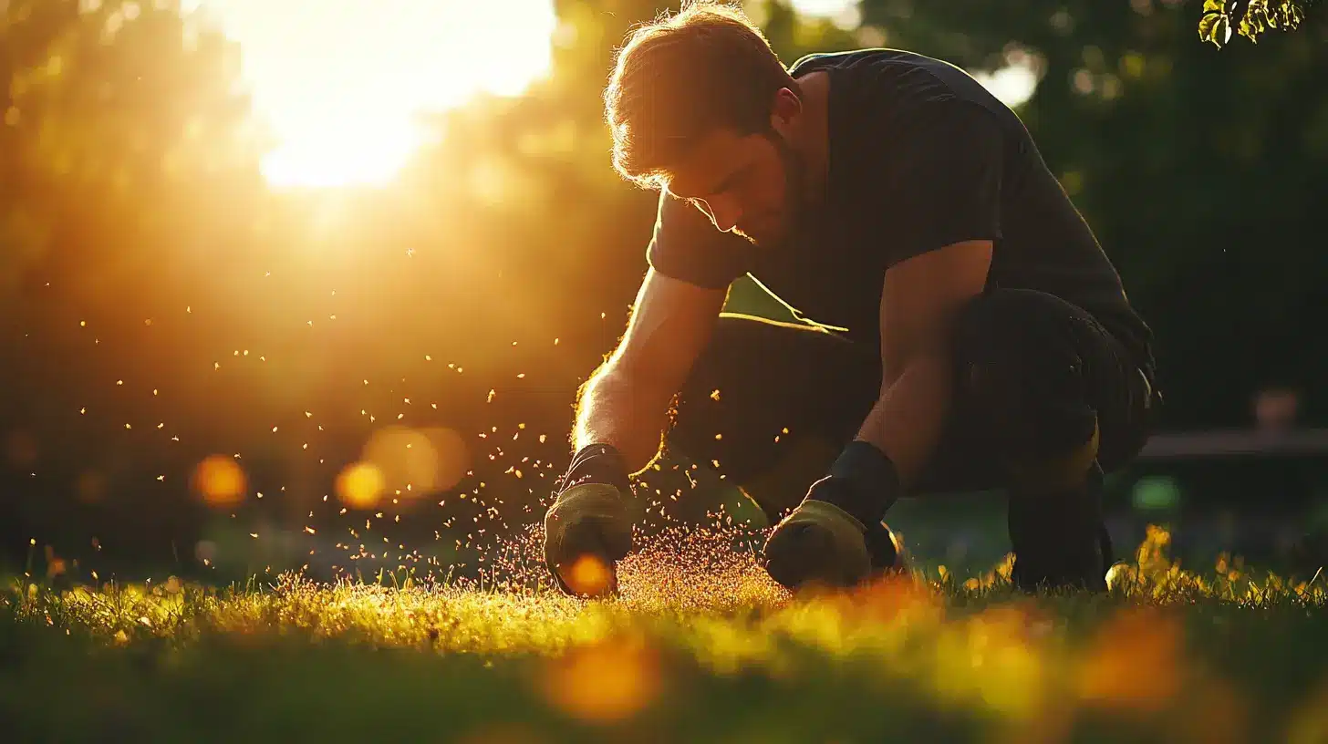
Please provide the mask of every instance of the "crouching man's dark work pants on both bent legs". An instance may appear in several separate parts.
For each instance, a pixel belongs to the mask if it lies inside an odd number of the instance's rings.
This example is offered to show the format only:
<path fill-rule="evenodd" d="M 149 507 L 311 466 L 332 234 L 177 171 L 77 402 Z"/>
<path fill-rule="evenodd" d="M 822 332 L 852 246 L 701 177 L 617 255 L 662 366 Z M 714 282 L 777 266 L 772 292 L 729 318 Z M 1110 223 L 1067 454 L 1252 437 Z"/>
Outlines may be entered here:
<path fill-rule="evenodd" d="M 965 308 L 952 349 L 951 418 L 906 496 L 1004 488 L 1008 462 L 1064 456 L 1092 437 L 1094 422 L 1106 472 L 1147 437 L 1154 396 L 1138 361 L 1070 303 L 991 290 Z M 718 462 L 777 519 L 857 436 L 879 388 L 875 345 L 722 315 L 680 393 L 667 448 Z"/>

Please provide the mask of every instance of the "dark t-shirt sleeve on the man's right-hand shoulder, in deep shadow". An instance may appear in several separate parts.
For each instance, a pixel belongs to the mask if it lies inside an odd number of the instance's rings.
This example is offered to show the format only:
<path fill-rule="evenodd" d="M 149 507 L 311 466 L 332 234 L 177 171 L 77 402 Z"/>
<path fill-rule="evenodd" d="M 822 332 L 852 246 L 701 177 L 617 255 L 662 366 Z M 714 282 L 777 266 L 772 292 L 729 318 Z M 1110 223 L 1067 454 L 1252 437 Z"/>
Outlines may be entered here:
<path fill-rule="evenodd" d="M 952 243 L 1001 238 L 1005 137 L 993 113 L 961 101 L 927 104 L 887 151 L 891 186 L 880 230 L 890 266 Z"/>

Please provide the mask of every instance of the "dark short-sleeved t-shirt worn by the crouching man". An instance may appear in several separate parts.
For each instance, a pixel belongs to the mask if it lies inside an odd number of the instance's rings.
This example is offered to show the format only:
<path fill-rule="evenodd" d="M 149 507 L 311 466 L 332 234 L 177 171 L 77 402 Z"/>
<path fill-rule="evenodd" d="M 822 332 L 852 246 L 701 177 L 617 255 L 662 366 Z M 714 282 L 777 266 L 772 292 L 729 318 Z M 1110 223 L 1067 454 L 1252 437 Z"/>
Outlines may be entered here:
<path fill-rule="evenodd" d="M 989 239 L 989 284 L 1082 307 L 1151 373 L 1149 327 L 1008 106 L 964 70 L 911 52 L 811 54 L 790 72 L 813 70 L 830 76 L 825 205 L 784 244 L 757 247 L 664 191 L 647 252 L 656 271 L 713 288 L 750 274 L 799 316 L 878 344 L 887 268 Z"/>

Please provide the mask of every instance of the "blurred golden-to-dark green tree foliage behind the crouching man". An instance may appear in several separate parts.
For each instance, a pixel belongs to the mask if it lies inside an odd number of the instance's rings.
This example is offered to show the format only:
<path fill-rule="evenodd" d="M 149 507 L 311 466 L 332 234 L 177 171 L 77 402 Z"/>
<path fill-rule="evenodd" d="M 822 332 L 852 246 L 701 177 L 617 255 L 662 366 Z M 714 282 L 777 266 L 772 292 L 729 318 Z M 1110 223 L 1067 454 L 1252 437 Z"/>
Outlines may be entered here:
<path fill-rule="evenodd" d="M 7 551 L 96 535 L 190 561 L 215 522 L 359 519 L 393 549 L 463 546 L 535 521 L 645 268 L 655 198 L 612 173 L 600 92 L 665 7 L 555 0 L 523 93 L 421 114 L 434 136 L 386 183 L 278 189 L 244 49 L 194 5 L 0 0 Z M 1219 50 L 1195 39 L 1198 1 L 815 5 L 746 8 L 786 64 L 884 45 L 1023 81 L 1016 110 L 1157 332 L 1163 426 L 1244 425 L 1272 384 L 1324 421 L 1325 13 Z M 458 433 L 434 457 L 469 474 L 386 477 L 341 513 L 337 474 L 386 425 Z M 220 509 L 199 498 L 211 454 L 246 477 Z M 692 478 L 659 478 L 645 506 L 688 515 Z"/>

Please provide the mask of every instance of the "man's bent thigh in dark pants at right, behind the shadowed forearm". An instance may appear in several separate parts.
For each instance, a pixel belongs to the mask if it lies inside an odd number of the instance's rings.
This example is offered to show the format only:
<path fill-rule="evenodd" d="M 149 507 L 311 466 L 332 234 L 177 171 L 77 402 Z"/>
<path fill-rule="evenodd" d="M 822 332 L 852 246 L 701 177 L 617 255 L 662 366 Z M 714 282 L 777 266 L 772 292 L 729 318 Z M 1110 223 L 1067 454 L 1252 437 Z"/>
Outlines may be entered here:
<path fill-rule="evenodd" d="M 995 290 L 955 333 L 955 399 L 916 494 L 1004 488 L 1007 462 L 1054 457 L 1098 428 L 1110 472 L 1147 437 L 1151 388 L 1086 311 L 1032 290 Z"/>

